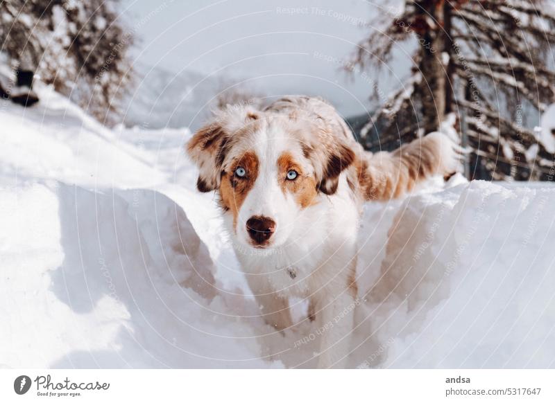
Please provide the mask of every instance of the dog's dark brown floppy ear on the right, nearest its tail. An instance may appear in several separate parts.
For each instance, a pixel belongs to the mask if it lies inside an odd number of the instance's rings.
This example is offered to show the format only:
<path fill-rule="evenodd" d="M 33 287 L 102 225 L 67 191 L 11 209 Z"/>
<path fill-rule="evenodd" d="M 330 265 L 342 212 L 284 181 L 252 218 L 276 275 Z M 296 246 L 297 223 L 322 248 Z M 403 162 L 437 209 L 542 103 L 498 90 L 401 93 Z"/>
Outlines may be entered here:
<path fill-rule="evenodd" d="M 333 195 L 339 185 L 339 174 L 355 161 L 355 152 L 350 145 L 338 142 L 325 152 L 322 175 L 318 181 L 318 190 L 326 195 Z"/>

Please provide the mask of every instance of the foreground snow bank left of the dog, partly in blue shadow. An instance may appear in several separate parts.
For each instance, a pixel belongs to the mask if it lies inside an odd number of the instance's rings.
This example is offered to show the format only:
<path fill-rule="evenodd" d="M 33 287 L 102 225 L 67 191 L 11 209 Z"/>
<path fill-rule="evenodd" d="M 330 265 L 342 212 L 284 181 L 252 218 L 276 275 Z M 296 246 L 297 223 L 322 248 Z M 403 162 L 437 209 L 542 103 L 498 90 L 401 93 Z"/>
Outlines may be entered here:
<path fill-rule="evenodd" d="M 50 183 L 0 200 L 3 366 L 268 366 L 164 195 Z"/>

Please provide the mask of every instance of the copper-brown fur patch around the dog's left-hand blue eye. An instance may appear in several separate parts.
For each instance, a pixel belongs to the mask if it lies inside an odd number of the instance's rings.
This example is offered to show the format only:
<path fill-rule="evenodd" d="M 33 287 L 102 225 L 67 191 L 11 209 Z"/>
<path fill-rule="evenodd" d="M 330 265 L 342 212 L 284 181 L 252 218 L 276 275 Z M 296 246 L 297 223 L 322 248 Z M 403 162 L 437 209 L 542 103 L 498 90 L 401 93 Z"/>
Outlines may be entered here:
<path fill-rule="evenodd" d="M 238 167 L 246 170 L 245 177 L 238 177 Z M 258 175 L 258 158 L 254 152 L 244 153 L 240 159 L 233 161 L 228 171 L 221 172 L 220 204 L 226 211 L 233 214 L 233 226 L 237 224 L 239 209 L 245 201 L 248 191 L 253 188 Z"/>

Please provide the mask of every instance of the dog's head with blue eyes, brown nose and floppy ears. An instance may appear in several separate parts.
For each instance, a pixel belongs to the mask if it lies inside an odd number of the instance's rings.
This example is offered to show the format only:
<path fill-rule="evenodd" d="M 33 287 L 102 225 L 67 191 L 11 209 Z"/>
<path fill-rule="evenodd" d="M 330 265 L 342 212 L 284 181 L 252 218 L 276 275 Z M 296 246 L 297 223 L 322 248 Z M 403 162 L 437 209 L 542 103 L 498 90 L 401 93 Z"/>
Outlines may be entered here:
<path fill-rule="evenodd" d="M 335 125 L 297 112 L 228 107 L 187 145 L 200 171 L 198 190 L 219 192 L 241 244 L 287 242 L 302 212 L 333 195 L 355 159 Z"/>

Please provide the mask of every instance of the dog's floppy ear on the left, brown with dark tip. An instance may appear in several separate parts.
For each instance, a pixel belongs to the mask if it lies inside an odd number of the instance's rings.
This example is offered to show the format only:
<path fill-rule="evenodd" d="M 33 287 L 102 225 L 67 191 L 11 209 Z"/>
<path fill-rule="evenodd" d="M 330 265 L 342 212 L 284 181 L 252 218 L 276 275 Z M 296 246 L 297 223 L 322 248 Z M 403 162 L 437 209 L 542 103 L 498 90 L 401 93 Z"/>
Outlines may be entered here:
<path fill-rule="evenodd" d="M 214 120 L 205 125 L 187 143 L 187 154 L 198 166 L 196 188 L 200 192 L 210 192 L 219 186 L 220 168 L 223 163 L 223 146 L 228 135 L 223 127 Z"/>

